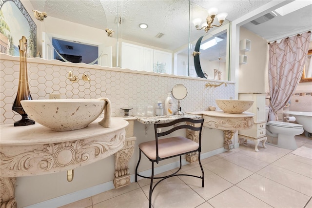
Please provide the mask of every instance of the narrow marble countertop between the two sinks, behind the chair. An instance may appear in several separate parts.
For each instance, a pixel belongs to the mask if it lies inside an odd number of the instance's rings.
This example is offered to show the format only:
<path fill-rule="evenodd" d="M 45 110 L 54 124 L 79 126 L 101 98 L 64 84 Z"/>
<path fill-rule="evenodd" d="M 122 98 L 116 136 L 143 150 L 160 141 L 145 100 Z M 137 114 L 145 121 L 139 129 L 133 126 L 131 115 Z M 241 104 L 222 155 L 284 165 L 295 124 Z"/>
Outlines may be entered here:
<path fill-rule="evenodd" d="M 184 113 L 183 116 L 172 115 L 172 116 L 150 116 L 150 117 L 136 117 L 137 121 L 142 124 L 157 124 L 157 123 L 168 123 L 179 118 L 192 118 L 201 119 L 200 115 L 194 115 L 189 113 Z"/>

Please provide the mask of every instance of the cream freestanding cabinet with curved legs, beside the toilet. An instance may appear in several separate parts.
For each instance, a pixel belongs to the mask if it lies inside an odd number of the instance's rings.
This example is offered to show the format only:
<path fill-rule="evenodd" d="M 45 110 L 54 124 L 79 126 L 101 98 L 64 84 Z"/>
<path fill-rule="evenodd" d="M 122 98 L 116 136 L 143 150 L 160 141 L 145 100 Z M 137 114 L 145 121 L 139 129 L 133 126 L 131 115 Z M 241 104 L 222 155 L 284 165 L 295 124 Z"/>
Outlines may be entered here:
<path fill-rule="evenodd" d="M 247 140 L 254 140 L 254 150 L 258 152 L 258 144 L 262 141 L 262 146 L 266 148 L 266 118 L 265 118 L 265 94 L 260 93 L 239 93 L 239 100 L 254 100 L 254 104 L 247 112 L 254 113 L 254 125 L 250 129 L 238 131 L 239 139 L 244 139 L 244 144 Z"/>

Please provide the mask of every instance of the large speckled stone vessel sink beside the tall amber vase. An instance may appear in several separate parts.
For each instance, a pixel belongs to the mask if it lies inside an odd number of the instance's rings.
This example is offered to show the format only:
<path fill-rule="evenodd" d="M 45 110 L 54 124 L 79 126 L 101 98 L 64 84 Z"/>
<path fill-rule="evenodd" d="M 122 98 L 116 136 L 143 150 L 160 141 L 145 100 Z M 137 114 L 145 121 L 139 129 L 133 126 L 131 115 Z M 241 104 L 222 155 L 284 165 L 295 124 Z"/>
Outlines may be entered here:
<path fill-rule="evenodd" d="M 54 131 L 87 127 L 107 104 L 99 99 L 25 100 L 20 103 L 32 120 Z"/>

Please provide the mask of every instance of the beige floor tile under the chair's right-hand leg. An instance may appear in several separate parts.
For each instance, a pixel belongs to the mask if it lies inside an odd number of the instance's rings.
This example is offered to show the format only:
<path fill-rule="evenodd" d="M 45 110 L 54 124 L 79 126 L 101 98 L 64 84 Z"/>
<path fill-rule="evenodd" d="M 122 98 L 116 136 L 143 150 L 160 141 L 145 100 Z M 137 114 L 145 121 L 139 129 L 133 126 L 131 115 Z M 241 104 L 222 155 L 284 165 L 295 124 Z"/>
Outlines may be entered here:
<path fill-rule="evenodd" d="M 215 195 L 221 193 L 229 187 L 232 187 L 233 184 L 211 172 L 210 170 L 204 168 L 205 179 L 204 179 L 204 187 L 201 187 L 201 179 L 190 177 L 190 176 L 179 176 L 181 180 L 183 180 L 188 186 L 190 186 L 193 190 L 195 190 L 201 197 L 205 200 L 208 200 Z M 200 169 L 193 169 L 184 172 L 186 174 L 194 174 L 200 175 Z"/>

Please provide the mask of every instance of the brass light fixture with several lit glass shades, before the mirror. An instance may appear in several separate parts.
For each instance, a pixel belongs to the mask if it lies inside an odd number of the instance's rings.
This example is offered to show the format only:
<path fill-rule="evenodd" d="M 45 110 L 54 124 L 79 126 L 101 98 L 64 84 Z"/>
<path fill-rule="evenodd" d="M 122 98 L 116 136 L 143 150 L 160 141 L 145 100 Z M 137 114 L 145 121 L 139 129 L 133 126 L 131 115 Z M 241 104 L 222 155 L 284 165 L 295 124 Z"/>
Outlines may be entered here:
<path fill-rule="evenodd" d="M 217 8 L 210 8 L 210 9 L 208 10 L 208 17 L 207 17 L 207 19 L 206 19 L 206 22 L 204 22 L 204 23 L 201 25 L 201 26 L 202 26 L 201 28 L 199 28 L 199 27 L 200 27 L 199 25 L 200 25 L 200 23 L 201 23 L 201 19 L 200 19 L 200 18 L 194 19 L 194 20 L 193 20 L 193 24 L 195 25 L 196 30 L 201 30 L 201 29 L 204 28 L 205 32 L 207 33 L 208 30 L 210 30 L 210 29 L 213 28 L 213 27 L 220 27 L 220 26 L 223 24 L 223 22 L 224 22 L 224 20 L 225 20 L 225 18 L 226 18 L 226 16 L 227 16 L 228 14 L 225 13 L 225 12 L 222 12 L 222 13 L 220 13 L 220 14 L 217 14 L 217 12 L 218 12 L 218 9 L 217 9 Z M 216 18 L 218 19 L 220 25 L 215 25 L 215 24 L 213 24 L 213 23 L 214 23 L 214 20 L 215 20 L 215 16 L 216 16 Z"/>

